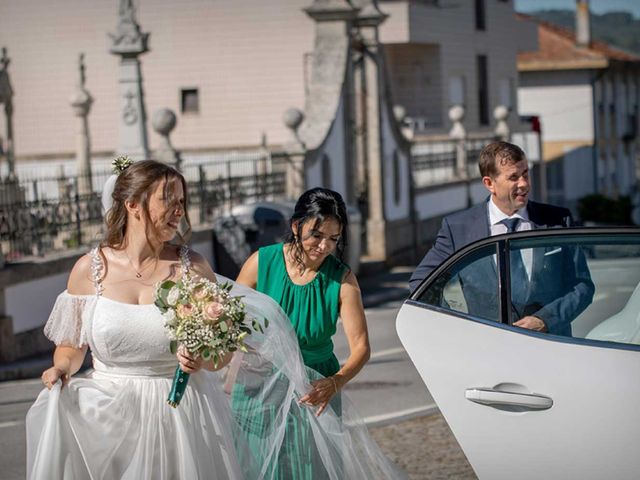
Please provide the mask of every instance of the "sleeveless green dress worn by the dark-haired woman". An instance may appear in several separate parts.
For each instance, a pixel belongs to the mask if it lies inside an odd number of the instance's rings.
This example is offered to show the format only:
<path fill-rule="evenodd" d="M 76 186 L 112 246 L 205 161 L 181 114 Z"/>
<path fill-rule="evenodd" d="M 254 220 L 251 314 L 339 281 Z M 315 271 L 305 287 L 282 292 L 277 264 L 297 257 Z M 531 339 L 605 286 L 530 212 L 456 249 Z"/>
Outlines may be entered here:
<path fill-rule="evenodd" d="M 331 337 L 336 333 L 340 310 L 340 287 L 345 272 L 344 263 L 333 255 L 327 257 L 315 278 L 305 285 L 291 281 L 284 261 L 284 245 L 278 243 L 263 247 L 258 252 L 258 283 L 256 290 L 273 298 L 284 310 L 298 337 L 304 364 L 320 375 L 328 377 L 340 369 L 333 353 Z M 311 372 L 314 375 L 314 372 Z M 318 375 L 315 375 L 319 378 Z M 275 421 L 273 409 L 255 398 L 243 385 L 233 389 L 232 408 L 234 416 L 249 444 L 260 442 L 264 432 L 269 431 L 269 422 Z M 340 397 L 336 395 L 331 407 L 340 413 Z M 319 455 L 311 438 L 310 425 L 298 407 L 292 405 L 286 419 L 287 429 L 278 455 L 278 463 L 270 468 L 273 475 L 267 478 L 315 480 L 323 478 L 318 465 Z M 252 449 L 254 452 L 260 449 Z M 260 462 L 259 458 L 254 461 Z"/>

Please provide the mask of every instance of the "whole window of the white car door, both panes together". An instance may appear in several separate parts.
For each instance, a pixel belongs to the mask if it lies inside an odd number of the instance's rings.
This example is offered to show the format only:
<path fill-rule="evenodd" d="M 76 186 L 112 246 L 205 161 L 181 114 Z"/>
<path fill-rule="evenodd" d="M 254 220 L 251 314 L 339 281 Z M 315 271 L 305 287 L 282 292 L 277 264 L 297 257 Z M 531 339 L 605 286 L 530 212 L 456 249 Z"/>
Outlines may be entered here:
<path fill-rule="evenodd" d="M 498 239 L 457 259 L 418 301 L 500 322 L 501 298 L 503 323 L 535 317 L 549 334 L 640 345 L 640 235 Z"/>

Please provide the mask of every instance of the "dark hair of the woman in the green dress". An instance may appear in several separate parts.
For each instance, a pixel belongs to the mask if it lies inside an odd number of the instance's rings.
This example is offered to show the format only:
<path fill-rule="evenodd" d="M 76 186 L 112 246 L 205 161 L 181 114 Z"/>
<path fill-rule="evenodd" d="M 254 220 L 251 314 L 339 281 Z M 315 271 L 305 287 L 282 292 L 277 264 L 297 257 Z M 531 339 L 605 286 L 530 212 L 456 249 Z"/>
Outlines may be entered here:
<path fill-rule="evenodd" d="M 342 196 L 328 188 L 316 187 L 304 192 L 296 202 L 293 215 L 289 220 L 291 231 L 287 234 L 285 241 L 293 247 L 291 249 L 293 260 L 300 269 L 304 269 L 302 226 L 312 221 L 314 222 L 313 228 L 318 228 L 322 222 L 329 218 L 335 219 L 342 229 L 335 251 L 335 256 L 342 260 L 347 246 L 347 226 L 349 224 L 347 207 Z"/>

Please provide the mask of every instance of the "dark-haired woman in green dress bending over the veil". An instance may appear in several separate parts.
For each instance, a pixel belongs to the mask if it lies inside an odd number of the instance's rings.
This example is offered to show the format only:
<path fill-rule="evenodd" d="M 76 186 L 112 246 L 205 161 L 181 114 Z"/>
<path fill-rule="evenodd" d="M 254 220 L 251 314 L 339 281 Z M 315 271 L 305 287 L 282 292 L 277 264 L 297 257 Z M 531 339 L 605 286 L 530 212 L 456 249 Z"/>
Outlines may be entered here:
<path fill-rule="evenodd" d="M 331 408 L 339 418 L 339 392 L 370 355 L 360 288 L 354 273 L 341 260 L 347 245 L 347 225 L 340 194 L 325 188 L 309 190 L 296 203 L 287 240 L 259 249 L 246 261 L 237 279 L 239 284 L 271 297 L 289 317 L 303 362 L 311 369 L 311 389 L 298 398 L 298 405 L 301 410 L 313 409 L 317 417 Z M 350 351 L 342 367 L 331 340 L 338 318 Z M 266 395 L 260 396 L 267 403 Z M 273 410 L 257 402 L 248 389 L 234 387 L 234 411 L 241 422 L 245 419 L 245 434 L 253 442 L 261 441 L 261 429 L 273 418 Z M 312 440 L 313 422 L 296 409 L 283 421 L 287 423 L 285 438 L 278 465 L 269 478 L 334 478 L 324 472 L 318 458 L 322 447 Z M 340 470 L 339 465 L 331 468 Z"/>

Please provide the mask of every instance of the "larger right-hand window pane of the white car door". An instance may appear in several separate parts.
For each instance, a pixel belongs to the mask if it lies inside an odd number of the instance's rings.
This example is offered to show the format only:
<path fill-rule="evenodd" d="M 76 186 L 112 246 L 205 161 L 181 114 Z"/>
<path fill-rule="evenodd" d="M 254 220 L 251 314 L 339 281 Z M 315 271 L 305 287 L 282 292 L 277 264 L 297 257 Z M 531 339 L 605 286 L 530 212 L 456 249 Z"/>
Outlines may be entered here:
<path fill-rule="evenodd" d="M 532 256 L 525 305 L 549 333 L 640 344 L 638 235 L 545 237 L 510 246 Z"/>

